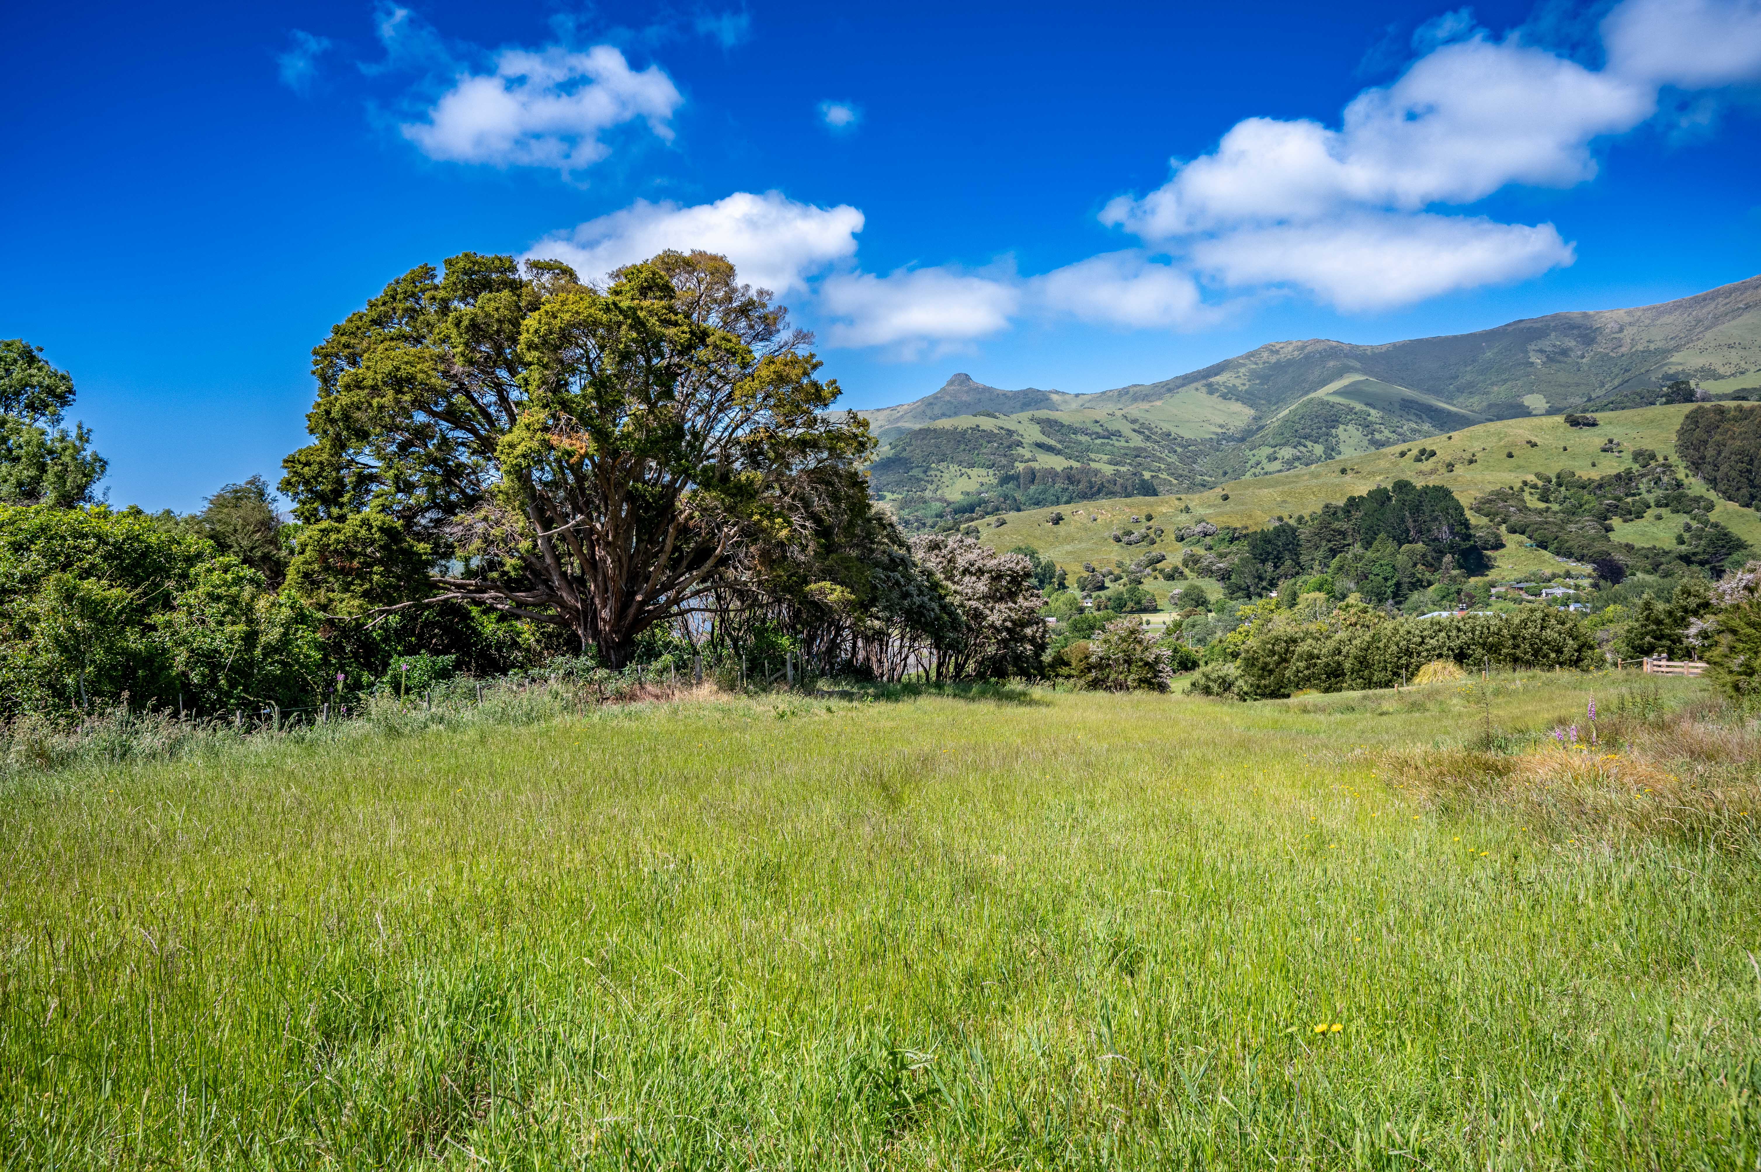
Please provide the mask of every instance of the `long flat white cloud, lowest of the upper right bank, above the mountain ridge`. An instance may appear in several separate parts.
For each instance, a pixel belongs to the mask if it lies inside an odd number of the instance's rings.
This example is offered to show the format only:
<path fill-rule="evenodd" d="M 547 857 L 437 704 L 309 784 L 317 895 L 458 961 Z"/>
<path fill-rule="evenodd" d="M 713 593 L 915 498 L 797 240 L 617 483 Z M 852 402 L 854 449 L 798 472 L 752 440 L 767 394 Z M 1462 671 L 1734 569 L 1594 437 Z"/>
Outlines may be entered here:
<path fill-rule="evenodd" d="M 1233 287 L 1294 284 L 1361 312 L 1537 277 L 1574 254 L 1551 224 L 1361 213 L 1226 233 L 1197 241 L 1192 259 Z"/>

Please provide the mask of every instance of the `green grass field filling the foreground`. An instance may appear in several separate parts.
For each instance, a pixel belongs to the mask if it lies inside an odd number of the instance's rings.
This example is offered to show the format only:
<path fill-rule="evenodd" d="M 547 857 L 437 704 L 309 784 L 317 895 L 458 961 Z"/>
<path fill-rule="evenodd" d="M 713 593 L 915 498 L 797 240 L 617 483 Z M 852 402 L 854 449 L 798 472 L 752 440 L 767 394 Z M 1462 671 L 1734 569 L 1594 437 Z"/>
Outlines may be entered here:
<path fill-rule="evenodd" d="M 1620 687 L 755 698 L 14 774 L 0 1163 L 1754 1168 L 1754 853 L 1377 775 Z"/>

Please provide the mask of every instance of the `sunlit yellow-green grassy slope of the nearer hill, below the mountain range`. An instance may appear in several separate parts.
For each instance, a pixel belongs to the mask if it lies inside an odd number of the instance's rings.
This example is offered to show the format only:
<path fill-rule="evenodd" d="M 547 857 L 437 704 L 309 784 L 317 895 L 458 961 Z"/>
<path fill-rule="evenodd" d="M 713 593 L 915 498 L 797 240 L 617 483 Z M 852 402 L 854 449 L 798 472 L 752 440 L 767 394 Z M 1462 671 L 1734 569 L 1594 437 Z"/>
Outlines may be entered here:
<path fill-rule="evenodd" d="M 1421 464 L 1412 458 L 1418 455 L 1416 449 L 1409 449 L 1402 458 L 1402 449 L 1411 446 L 1384 448 L 1291 472 L 1229 481 L 1197 493 L 1094 501 L 1081 506 L 1006 515 L 981 523 L 979 538 L 1002 550 L 1032 545 L 1058 566 L 1076 571 L 1083 562 L 1113 564 L 1115 559 L 1131 560 L 1131 557 L 1141 555 L 1146 546 L 1132 546 L 1127 553 L 1113 541 L 1111 534 L 1122 525 L 1131 525 L 1132 516 L 1146 513 L 1153 513 L 1155 523 L 1168 530 L 1160 546 L 1178 550 L 1173 530 L 1180 525 L 1206 520 L 1213 525 L 1257 529 L 1277 516 L 1312 513 L 1330 501 L 1338 502 L 1349 495 L 1361 495 L 1377 485 L 1391 485 L 1396 479 L 1446 485 L 1467 506 L 1492 488 L 1514 485 L 1539 472 L 1553 474 L 1560 469 L 1571 469 L 1580 476 L 1603 476 L 1631 467 L 1631 458 L 1625 453 L 1599 451 L 1608 441 L 1618 441 L 1627 451 L 1650 448 L 1661 456 L 1673 458 L 1675 432 L 1689 411 L 1689 405 L 1676 405 L 1608 412 L 1599 416 L 1601 427 L 1595 428 L 1567 427 L 1560 416 L 1499 419 L 1426 441 L 1426 448 L 1433 448 L 1439 455 Z M 1513 455 L 1506 456 L 1507 451 Z M 1680 460 L 1676 464 L 1680 465 Z M 1682 472 L 1685 476 L 1685 469 Z M 1705 492 L 1698 481 L 1694 486 L 1698 492 Z M 1192 511 L 1185 513 L 1183 509 L 1189 506 Z M 1064 515 L 1062 523 L 1050 523 L 1053 513 Z M 997 520 L 1004 523 L 991 527 Z M 1761 550 L 1761 515 L 1754 509 L 1719 501 L 1713 520 L 1722 522 L 1736 536 Z M 1675 539 L 1678 523 L 1680 518 L 1617 522 L 1611 536 L 1617 541 L 1634 545 L 1666 546 Z M 1509 545 L 1492 557 L 1497 564 L 1495 576 L 1522 575 L 1560 564 L 1558 559 L 1541 550 L 1523 548 L 1522 538 L 1511 538 Z M 1148 585 L 1159 596 L 1168 592 L 1162 583 Z"/>

